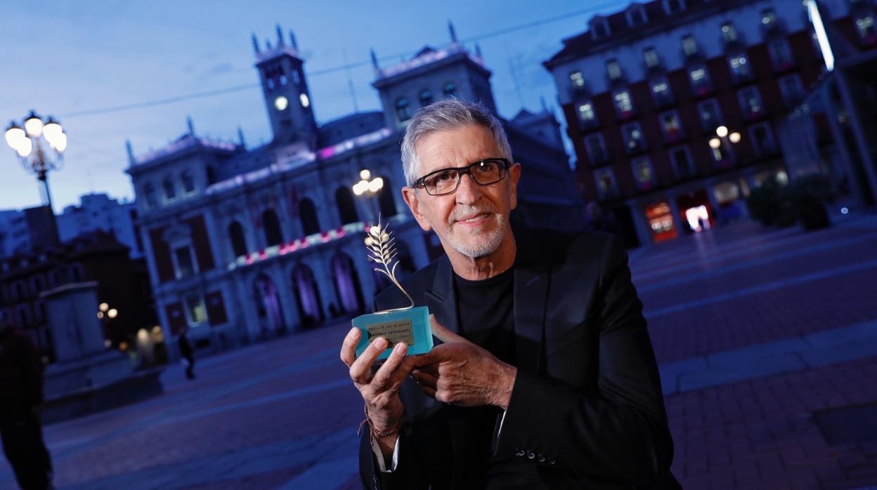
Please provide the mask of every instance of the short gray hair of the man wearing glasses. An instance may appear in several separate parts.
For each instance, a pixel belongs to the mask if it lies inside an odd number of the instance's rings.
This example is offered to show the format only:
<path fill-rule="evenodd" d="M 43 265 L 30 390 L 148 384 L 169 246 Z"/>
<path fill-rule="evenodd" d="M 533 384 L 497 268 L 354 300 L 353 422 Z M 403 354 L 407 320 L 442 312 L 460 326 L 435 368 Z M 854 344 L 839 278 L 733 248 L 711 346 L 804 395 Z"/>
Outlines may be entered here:
<path fill-rule="evenodd" d="M 481 103 L 468 103 L 456 97 L 448 97 L 417 110 L 405 129 L 402 139 L 405 182 L 411 185 L 417 179 L 417 141 L 435 131 L 448 131 L 470 124 L 478 124 L 493 132 L 496 146 L 499 147 L 499 156 L 512 161 L 509 138 L 505 135 L 503 123 Z"/>

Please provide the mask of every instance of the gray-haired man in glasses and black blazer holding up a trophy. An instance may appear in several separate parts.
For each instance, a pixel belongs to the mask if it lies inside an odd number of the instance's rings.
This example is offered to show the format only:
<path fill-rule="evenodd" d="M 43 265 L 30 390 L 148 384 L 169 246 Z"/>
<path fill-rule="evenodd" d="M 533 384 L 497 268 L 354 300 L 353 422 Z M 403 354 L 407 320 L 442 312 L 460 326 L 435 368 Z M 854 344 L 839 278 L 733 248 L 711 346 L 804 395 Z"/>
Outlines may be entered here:
<path fill-rule="evenodd" d="M 366 405 L 368 488 L 677 488 L 642 305 L 609 235 L 510 228 L 521 166 L 502 124 L 448 99 L 403 138 L 403 197 L 446 257 L 403 286 L 442 342 L 341 359 Z M 376 309 L 404 304 L 390 288 Z M 374 361 L 393 351 L 379 368 Z"/>

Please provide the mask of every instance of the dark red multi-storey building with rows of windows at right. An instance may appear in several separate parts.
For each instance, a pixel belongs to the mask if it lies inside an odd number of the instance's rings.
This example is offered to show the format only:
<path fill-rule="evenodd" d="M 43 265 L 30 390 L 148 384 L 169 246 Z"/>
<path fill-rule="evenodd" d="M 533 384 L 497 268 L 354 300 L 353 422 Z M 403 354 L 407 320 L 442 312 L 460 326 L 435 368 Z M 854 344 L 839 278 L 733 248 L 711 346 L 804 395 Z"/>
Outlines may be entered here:
<path fill-rule="evenodd" d="M 856 49 L 871 48 L 871 2 L 820 5 Z M 788 181 L 777 131 L 825 67 L 800 0 L 635 3 L 563 43 L 544 65 L 582 192 L 627 245 L 735 219 L 750 188 Z"/>

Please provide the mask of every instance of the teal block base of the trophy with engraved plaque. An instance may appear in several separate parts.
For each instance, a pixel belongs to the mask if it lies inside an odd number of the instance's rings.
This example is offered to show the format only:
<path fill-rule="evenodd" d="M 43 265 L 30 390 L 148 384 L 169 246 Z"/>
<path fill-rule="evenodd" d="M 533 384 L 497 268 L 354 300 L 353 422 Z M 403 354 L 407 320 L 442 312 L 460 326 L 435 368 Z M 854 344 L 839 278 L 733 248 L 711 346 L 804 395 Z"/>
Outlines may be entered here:
<path fill-rule="evenodd" d="M 362 331 L 360 343 L 356 344 L 356 357 L 360 357 L 374 337 L 389 340 L 389 346 L 378 359 L 389 358 L 393 347 L 399 342 L 408 345 L 408 355 L 425 354 L 432 350 L 430 311 L 418 306 L 389 313 L 369 313 L 353 318 L 353 326 Z"/>

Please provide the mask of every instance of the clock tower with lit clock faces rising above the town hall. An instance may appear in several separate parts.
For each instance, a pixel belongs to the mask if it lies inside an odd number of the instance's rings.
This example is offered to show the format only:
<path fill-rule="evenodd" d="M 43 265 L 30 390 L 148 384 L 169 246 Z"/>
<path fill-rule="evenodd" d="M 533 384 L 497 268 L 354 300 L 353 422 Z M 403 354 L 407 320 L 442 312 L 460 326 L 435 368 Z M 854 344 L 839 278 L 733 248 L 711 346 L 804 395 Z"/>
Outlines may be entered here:
<path fill-rule="evenodd" d="M 278 25 L 276 46 L 266 41 L 264 49 L 253 34 L 253 50 L 274 143 L 305 143 L 313 149 L 317 145 L 317 123 L 295 34 L 289 32 L 287 43 Z"/>

